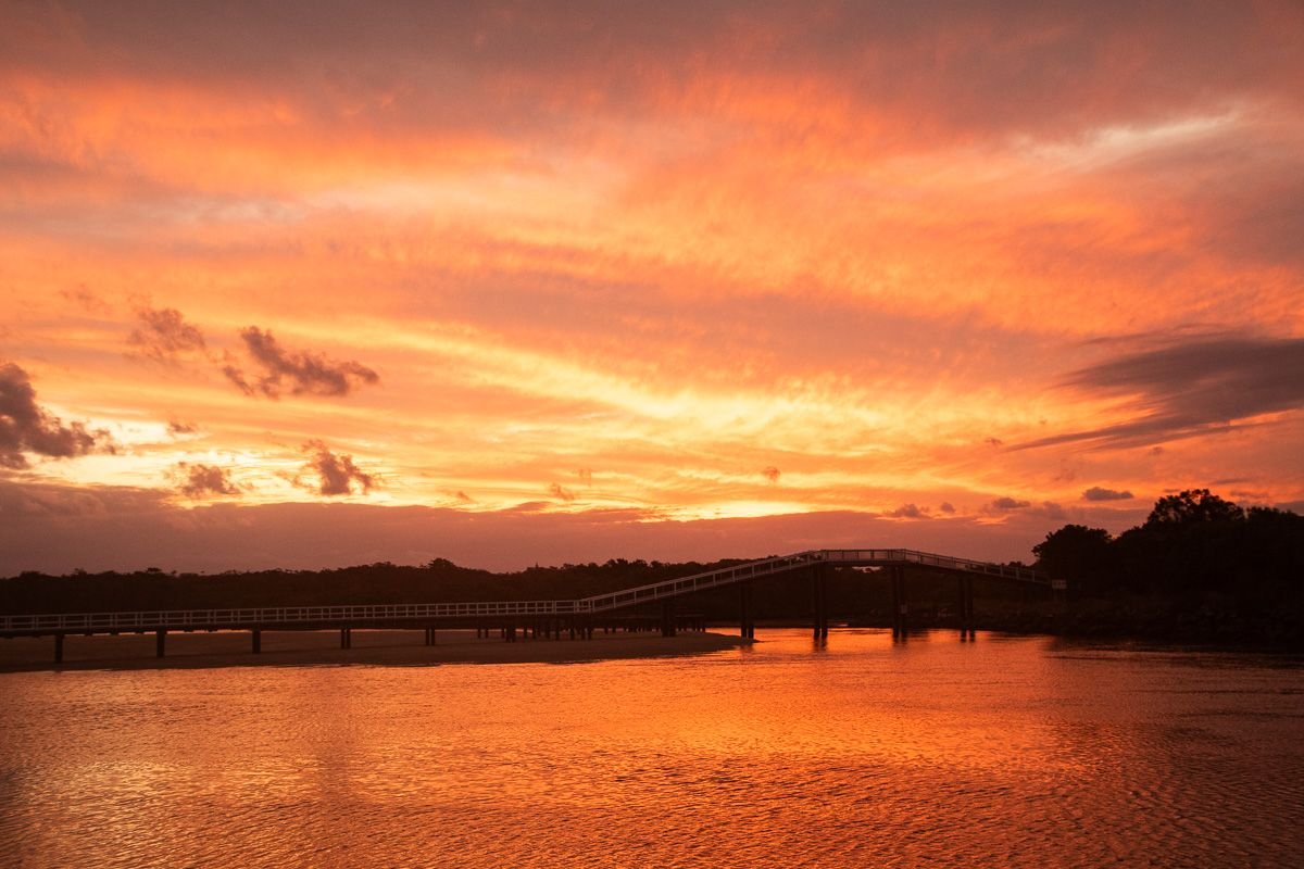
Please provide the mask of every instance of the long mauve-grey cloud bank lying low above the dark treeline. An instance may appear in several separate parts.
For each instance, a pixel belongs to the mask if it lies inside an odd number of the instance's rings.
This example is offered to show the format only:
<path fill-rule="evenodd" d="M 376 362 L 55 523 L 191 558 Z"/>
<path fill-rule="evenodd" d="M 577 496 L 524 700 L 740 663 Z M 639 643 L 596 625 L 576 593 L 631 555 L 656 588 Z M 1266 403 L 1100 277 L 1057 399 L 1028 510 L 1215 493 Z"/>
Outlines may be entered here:
<path fill-rule="evenodd" d="M 3 489 L 0 489 L 3 492 Z M 3 503 L 3 502 L 0 502 Z M 467 513 L 422 507 L 364 504 L 218 504 L 177 516 L 136 492 L 130 504 L 99 504 L 63 524 L 18 521 L 0 529 L 0 576 L 76 569 L 222 573 L 259 569 L 335 569 L 390 562 L 421 565 L 443 558 L 459 567 L 514 572 L 535 564 L 715 562 L 810 548 L 914 548 L 985 562 L 1033 562 L 1031 547 L 1065 524 L 1101 526 L 1091 515 L 1035 516 L 983 524 L 986 517 L 913 519 L 854 511 L 764 519 L 648 521 L 634 511 L 572 515 L 502 511 Z M 1299 511 L 1299 504 L 1279 506 Z M 1118 534 L 1140 525 L 1137 508 Z M 10 515 L 12 511 L 10 511 Z M 1118 513 L 1110 513 L 1118 519 Z M 159 533 L 162 522 L 172 522 Z M 348 529 L 342 533 L 340 529 Z M 313 555 L 305 555 L 312 552 Z"/>

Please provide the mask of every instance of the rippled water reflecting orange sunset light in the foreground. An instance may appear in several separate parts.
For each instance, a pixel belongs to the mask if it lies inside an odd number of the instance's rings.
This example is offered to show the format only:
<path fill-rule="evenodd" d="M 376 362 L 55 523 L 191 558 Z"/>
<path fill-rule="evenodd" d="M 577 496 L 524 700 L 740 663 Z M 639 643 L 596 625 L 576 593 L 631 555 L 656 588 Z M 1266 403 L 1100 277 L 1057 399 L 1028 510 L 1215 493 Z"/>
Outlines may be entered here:
<path fill-rule="evenodd" d="M 22 866 L 1300 866 L 1281 659 L 802 631 L 691 659 L 0 675 Z"/>

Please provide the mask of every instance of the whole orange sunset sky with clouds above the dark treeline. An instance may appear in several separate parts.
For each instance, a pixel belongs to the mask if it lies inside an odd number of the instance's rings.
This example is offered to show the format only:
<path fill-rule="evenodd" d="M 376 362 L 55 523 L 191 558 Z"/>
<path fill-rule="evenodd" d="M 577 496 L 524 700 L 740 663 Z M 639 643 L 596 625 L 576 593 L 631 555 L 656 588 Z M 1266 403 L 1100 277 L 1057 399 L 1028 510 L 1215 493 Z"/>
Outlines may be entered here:
<path fill-rule="evenodd" d="M 1304 7 L 0 8 L 0 575 L 1304 507 Z"/>

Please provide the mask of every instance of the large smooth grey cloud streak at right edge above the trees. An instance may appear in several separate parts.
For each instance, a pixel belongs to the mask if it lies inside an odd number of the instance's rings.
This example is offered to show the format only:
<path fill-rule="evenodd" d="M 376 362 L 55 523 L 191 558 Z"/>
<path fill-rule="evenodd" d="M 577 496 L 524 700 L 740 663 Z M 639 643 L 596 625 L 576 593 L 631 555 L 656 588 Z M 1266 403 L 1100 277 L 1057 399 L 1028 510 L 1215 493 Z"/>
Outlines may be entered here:
<path fill-rule="evenodd" d="M 1300 371 L 1304 339 L 1206 336 L 1129 353 L 1074 371 L 1061 386 L 1121 397 L 1132 420 L 1016 448 L 1063 443 L 1138 447 L 1228 431 L 1251 417 L 1304 408 Z"/>

